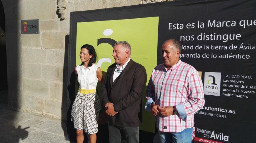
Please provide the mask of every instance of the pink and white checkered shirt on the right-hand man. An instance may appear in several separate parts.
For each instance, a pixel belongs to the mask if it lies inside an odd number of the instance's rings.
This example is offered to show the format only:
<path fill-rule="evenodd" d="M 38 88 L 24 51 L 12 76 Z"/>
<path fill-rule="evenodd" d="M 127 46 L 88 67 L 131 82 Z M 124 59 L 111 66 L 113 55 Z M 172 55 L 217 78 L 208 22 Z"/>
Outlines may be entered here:
<path fill-rule="evenodd" d="M 164 64 L 152 72 L 147 99 L 152 98 L 160 107 L 176 106 L 183 103 L 187 119 L 180 115 L 156 117 L 157 128 L 163 132 L 181 132 L 194 125 L 194 113 L 204 105 L 203 84 L 199 73 L 189 64 L 179 62 L 166 71 Z"/>

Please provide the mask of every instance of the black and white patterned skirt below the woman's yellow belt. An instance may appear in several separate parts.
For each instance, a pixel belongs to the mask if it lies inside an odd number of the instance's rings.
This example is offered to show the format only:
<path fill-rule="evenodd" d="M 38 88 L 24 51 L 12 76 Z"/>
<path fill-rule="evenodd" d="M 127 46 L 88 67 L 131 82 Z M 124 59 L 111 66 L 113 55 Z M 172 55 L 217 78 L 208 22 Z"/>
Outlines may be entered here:
<path fill-rule="evenodd" d="M 74 128 L 77 130 L 84 129 L 87 134 L 97 133 L 100 109 L 99 97 L 96 92 L 89 94 L 77 92 L 71 110 Z"/>

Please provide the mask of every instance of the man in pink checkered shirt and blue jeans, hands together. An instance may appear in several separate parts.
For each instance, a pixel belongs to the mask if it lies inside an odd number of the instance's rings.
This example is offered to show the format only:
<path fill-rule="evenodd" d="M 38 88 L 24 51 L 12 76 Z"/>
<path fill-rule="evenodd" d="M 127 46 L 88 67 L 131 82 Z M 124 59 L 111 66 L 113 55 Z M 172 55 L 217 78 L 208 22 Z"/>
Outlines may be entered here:
<path fill-rule="evenodd" d="M 204 105 L 201 77 L 180 54 L 177 40 L 165 41 L 164 64 L 154 68 L 148 84 L 145 109 L 156 116 L 161 143 L 191 143 L 194 113 Z"/>

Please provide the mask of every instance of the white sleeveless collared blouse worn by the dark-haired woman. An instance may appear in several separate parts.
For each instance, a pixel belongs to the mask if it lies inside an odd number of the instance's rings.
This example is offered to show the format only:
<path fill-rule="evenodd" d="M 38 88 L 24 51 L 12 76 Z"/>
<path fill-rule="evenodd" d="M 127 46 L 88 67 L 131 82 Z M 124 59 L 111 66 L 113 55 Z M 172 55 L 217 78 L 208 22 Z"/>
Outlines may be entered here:
<path fill-rule="evenodd" d="M 76 66 L 79 88 L 87 90 L 96 89 L 98 83 L 97 68 L 95 64 L 92 64 L 91 67 L 87 67 L 86 69 L 83 65 Z"/>

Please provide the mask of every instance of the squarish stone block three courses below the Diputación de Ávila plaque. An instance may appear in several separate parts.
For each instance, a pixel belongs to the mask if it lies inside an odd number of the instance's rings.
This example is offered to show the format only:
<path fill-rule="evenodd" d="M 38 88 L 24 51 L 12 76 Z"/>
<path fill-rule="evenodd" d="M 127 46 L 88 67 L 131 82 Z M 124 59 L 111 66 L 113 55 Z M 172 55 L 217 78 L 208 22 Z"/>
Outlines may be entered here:
<path fill-rule="evenodd" d="M 22 63 L 23 77 L 40 79 L 42 77 L 42 66 L 39 64 Z"/>

